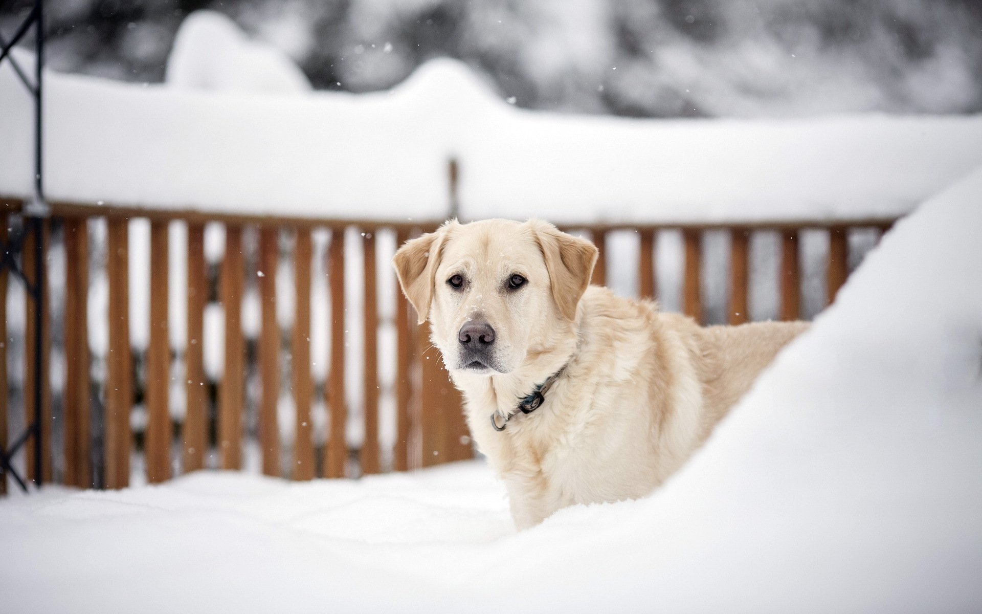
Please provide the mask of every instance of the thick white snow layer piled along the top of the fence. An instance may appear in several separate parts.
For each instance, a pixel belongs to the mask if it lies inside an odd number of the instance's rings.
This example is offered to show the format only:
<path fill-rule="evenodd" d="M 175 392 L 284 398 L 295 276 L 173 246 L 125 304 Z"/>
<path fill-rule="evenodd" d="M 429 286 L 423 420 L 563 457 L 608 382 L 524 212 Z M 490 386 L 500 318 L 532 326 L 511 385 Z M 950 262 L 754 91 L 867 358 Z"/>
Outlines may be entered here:
<path fill-rule="evenodd" d="M 215 29 L 200 26 L 198 37 Z M 269 93 L 266 85 L 283 80 L 249 75 L 242 64 L 281 70 L 282 62 L 256 60 L 254 45 L 228 32 L 222 39 L 235 44 L 219 55 L 185 33 L 179 66 L 220 57 L 226 71 L 249 77 L 246 89 L 262 91 L 182 88 L 202 73 L 182 75 L 173 62 L 169 74 L 186 83 L 47 74 L 49 199 L 433 220 L 449 212 L 448 160 L 457 158 L 464 218 L 846 220 L 903 214 L 982 163 L 979 116 L 737 121 L 530 112 L 446 59 L 389 91 L 304 91 L 292 79 L 296 87 Z M 0 195 L 27 195 L 30 106 L 9 66 L 0 68 L 0 109 Z"/>

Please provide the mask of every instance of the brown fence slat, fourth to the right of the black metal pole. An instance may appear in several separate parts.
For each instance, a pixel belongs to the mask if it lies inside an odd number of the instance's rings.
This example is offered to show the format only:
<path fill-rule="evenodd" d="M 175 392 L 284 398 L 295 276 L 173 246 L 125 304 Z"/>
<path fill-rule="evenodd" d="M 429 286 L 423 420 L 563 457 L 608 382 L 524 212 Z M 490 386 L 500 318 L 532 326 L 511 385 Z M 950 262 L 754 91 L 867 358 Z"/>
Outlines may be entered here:
<path fill-rule="evenodd" d="M 208 445 L 207 382 L 204 378 L 202 331 L 208 285 L 204 269 L 204 226 L 188 224 L 188 347 L 185 355 L 187 408 L 181 430 L 185 473 L 204 469 Z"/>

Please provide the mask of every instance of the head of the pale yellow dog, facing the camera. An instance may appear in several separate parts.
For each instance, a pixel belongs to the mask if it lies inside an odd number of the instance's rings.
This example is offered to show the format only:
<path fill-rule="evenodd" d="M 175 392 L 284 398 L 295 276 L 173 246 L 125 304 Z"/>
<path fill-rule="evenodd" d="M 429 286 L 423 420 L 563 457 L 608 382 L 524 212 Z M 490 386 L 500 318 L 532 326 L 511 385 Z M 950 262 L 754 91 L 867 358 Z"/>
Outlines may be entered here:
<path fill-rule="evenodd" d="M 597 249 L 552 224 L 447 222 L 393 258 L 421 324 L 429 319 L 444 363 L 509 373 L 572 330 Z"/>

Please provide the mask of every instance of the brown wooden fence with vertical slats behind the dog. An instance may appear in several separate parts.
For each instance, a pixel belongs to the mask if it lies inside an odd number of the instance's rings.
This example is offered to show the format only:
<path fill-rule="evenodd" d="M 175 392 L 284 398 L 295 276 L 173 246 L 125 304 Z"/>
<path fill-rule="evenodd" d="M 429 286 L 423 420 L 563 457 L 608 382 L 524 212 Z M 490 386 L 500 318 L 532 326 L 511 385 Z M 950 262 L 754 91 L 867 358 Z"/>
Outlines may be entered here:
<path fill-rule="evenodd" d="M 4 207 L 4 223 L 0 232 L 8 227 L 7 216 L 18 215 L 19 203 L 14 200 L 0 201 Z M 36 377 L 41 377 L 45 394 L 42 398 L 44 420 L 42 437 L 43 481 L 52 478 L 52 423 L 60 429 L 60 441 L 64 450 L 60 480 L 69 485 L 88 487 L 96 482 L 93 475 L 96 467 L 104 478 L 98 485 L 107 488 L 121 488 L 129 484 L 131 455 L 135 447 L 135 435 L 131 428 L 131 411 L 135 404 L 135 382 L 133 356 L 130 343 L 131 316 L 129 308 L 130 291 L 128 272 L 128 252 L 130 250 L 129 220 L 135 217 L 149 219 L 150 224 L 150 297 L 149 342 L 145 353 L 145 393 L 143 405 L 147 422 L 141 441 L 145 455 L 146 478 L 159 482 L 173 476 L 173 468 L 180 467 L 183 473 L 205 467 L 205 456 L 213 441 L 218 455 L 218 466 L 222 469 L 241 469 L 244 445 L 244 407 L 246 343 L 241 326 L 241 306 L 244 292 L 246 262 L 242 249 L 243 233 L 254 228 L 258 234 L 258 255 L 254 264 L 258 271 L 276 271 L 278 237 L 281 233 L 293 235 L 294 247 L 291 259 L 296 271 L 294 292 L 295 317 L 289 343 L 283 343 L 276 319 L 277 300 L 275 275 L 260 275 L 257 280 L 261 304 L 260 332 L 257 337 L 257 356 L 255 363 L 261 382 L 258 395 L 257 439 L 261 450 L 261 467 L 264 474 L 288 475 L 294 479 L 310 479 L 320 475 L 341 477 L 352 474 L 374 474 L 383 471 L 378 436 L 379 425 L 379 350 L 378 350 L 378 284 L 377 267 L 389 266 L 376 254 L 376 236 L 379 231 L 394 232 L 397 245 L 401 245 L 418 233 L 430 231 L 438 225 L 432 223 L 384 223 L 379 221 L 338 221 L 327 219 L 281 219 L 251 217 L 245 215 L 214 214 L 195 211 L 149 211 L 136 208 L 106 205 L 84 205 L 79 203 L 55 202 L 52 204 L 52 217 L 49 227 L 60 225 L 64 242 L 65 278 L 51 279 L 48 284 L 64 284 L 64 356 L 65 377 L 62 396 L 61 416 L 52 420 L 51 388 L 49 378 L 50 336 L 43 344 L 41 372 L 34 372 L 33 347 L 25 344 L 26 367 L 25 386 Z M 106 273 L 109 285 L 108 305 L 108 354 L 105 379 L 100 395 L 93 393 L 90 381 L 89 345 L 87 330 L 88 275 L 88 220 L 105 218 L 107 224 Z M 173 393 L 170 386 L 172 349 L 168 342 L 168 232 L 172 220 L 184 220 L 188 224 L 187 242 L 187 350 L 183 363 L 185 419 L 179 432 L 169 415 L 168 408 Z M 801 220 L 793 223 L 755 223 L 743 225 L 690 225 L 690 226 L 618 226 L 618 225 L 573 225 L 567 230 L 588 232 L 600 248 L 600 259 L 593 281 L 604 284 L 607 278 L 607 237 L 619 230 L 630 230 L 638 234 L 639 256 L 636 264 L 639 295 L 655 297 L 656 280 L 656 239 L 658 231 L 676 229 L 682 231 L 684 248 L 684 274 L 682 288 L 682 308 L 685 313 L 699 319 L 702 313 L 700 297 L 700 277 L 703 274 L 701 262 L 701 242 L 707 231 L 727 230 L 731 233 L 730 251 L 730 301 L 731 323 L 741 323 L 748 316 L 748 239 L 753 232 L 777 231 L 781 240 L 780 263 L 780 314 L 783 319 L 799 316 L 799 296 L 801 273 L 799 263 L 798 234 L 802 229 L 819 229 L 828 233 L 829 256 L 827 266 L 827 296 L 831 302 L 843 285 L 848 273 L 847 234 L 853 229 L 873 227 L 885 230 L 893 223 L 892 219 L 872 219 L 843 223 L 830 223 L 819 220 Z M 214 418 L 214 434 L 210 433 L 206 378 L 202 356 L 203 313 L 210 289 L 206 280 L 206 261 L 204 254 L 204 224 L 221 222 L 225 227 L 225 255 L 221 261 L 218 276 L 218 298 L 225 317 L 224 370 L 218 384 L 217 408 Z M 345 438 L 346 421 L 349 419 L 345 405 L 345 229 L 356 226 L 360 231 L 360 246 L 363 257 L 363 381 L 362 397 L 364 441 L 356 450 L 350 450 Z M 311 232 L 316 228 L 328 229 L 331 240 L 326 252 L 324 270 L 330 294 L 330 370 L 326 378 L 325 397 L 328 408 L 328 432 L 324 436 L 322 453 L 316 454 L 314 445 L 311 402 L 314 385 L 310 372 L 310 278 L 313 250 Z M 349 235 L 351 238 L 352 235 Z M 25 258 L 30 258 L 32 250 L 25 250 Z M 25 261 L 24 271 L 33 270 Z M 6 273 L 0 274 L 0 296 L 6 296 Z M 396 290 L 396 381 L 394 386 L 396 406 L 396 436 L 392 450 L 386 451 L 391 458 L 393 471 L 406 471 L 439 463 L 470 458 L 471 445 L 461 412 L 459 393 L 448 381 L 446 372 L 438 365 L 435 350 L 429 347 L 427 334 L 415 325 L 414 313 L 402 293 Z M 27 312 L 38 308 L 27 298 Z M 45 321 L 50 314 L 45 309 Z M 3 339 L 7 338 L 6 301 L 0 301 L 0 326 L 4 329 Z M 29 326 L 32 318 L 27 318 L 27 338 L 31 334 Z M 46 327 L 47 331 L 51 327 Z M 281 355 L 289 353 L 292 357 L 290 369 L 294 403 L 296 405 L 296 440 L 293 458 L 289 468 L 282 466 L 279 425 L 277 424 L 277 400 L 281 388 Z M 392 360 L 393 357 L 385 357 Z M 0 386 L 7 383 L 6 353 L 0 352 Z M 8 410 L 25 412 L 27 421 L 34 408 L 30 396 L 22 408 L 8 408 L 7 390 L 0 390 L 0 441 L 7 442 Z M 92 462 L 94 433 L 90 432 L 90 408 L 102 408 L 102 453 L 95 455 Z M 174 438 L 177 437 L 175 440 Z M 33 445 L 31 443 L 31 445 Z M 180 449 L 180 452 L 177 450 Z M 176 458 L 180 457 L 180 463 Z M 27 476 L 38 479 L 36 468 L 27 454 Z M 350 463 L 352 460 L 355 463 Z M 356 469 L 353 471 L 352 467 Z M 0 479 L 0 488 L 6 479 Z"/>

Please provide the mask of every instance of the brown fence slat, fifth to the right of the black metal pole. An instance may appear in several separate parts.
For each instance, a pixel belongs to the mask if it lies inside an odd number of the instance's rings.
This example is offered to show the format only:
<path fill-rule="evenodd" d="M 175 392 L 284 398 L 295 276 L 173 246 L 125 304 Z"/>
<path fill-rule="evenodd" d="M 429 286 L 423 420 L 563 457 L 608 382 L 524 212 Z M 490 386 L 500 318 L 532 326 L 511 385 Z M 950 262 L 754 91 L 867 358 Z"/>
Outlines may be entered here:
<path fill-rule="evenodd" d="M 225 258 L 221 269 L 221 301 L 225 310 L 225 369 L 218 389 L 218 449 L 222 469 L 242 467 L 246 369 L 246 342 L 242 326 L 246 271 L 243 265 L 242 237 L 242 227 L 225 227 Z"/>

